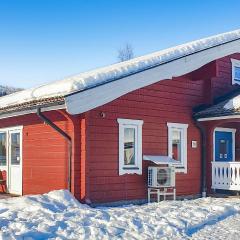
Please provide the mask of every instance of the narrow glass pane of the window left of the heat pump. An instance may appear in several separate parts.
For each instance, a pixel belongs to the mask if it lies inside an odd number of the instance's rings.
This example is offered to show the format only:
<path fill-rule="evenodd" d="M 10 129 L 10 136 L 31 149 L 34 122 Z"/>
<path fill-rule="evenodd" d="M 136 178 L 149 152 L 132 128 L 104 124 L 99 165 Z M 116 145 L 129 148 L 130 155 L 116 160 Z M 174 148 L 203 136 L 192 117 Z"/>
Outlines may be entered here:
<path fill-rule="evenodd" d="M 135 129 L 124 128 L 124 165 L 135 165 Z"/>

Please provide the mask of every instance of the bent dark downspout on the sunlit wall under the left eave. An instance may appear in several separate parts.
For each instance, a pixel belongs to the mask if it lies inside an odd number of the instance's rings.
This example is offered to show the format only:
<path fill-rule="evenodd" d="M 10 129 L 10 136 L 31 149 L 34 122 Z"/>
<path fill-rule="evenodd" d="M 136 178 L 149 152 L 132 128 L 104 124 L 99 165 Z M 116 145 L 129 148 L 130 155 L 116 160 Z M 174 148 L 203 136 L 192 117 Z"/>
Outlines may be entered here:
<path fill-rule="evenodd" d="M 55 131 L 61 134 L 68 141 L 68 190 L 71 192 L 71 179 L 72 179 L 72 139 L 65 133 L 61 128 L 59 128 L 55 123 L 48 119 L 42 112 L 41 108 L 37 108 L 38 117 L 47 125 L 52 127 Z"/>

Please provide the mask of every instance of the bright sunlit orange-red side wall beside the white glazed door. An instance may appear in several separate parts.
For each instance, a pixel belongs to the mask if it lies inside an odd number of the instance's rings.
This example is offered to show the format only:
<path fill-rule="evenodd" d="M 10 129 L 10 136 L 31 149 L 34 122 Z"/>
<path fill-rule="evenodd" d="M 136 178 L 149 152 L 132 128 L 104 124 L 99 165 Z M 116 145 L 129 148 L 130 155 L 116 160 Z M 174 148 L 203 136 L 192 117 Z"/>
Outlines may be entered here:
<path fill-rule="evenodd" d="M 46 116 L 71 134 L 72 124 L 62 114 Z M 67 188 L 67 142 L 36 114 L 0 120 L 0 128 L 19 125 L 23 125 L 23 194 Z"/>

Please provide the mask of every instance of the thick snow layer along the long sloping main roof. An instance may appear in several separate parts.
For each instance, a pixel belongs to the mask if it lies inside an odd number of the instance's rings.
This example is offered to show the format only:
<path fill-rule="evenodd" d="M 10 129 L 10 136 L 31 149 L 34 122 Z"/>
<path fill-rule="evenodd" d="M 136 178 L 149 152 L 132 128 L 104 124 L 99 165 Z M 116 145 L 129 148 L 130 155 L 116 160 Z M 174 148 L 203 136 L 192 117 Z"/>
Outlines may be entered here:
<path fill-rule="evenodd" d="M 237 41 L 239 39 L 240 30 L 236 30 L 182 44 L 176 47 L 168 48 L 152 54 L 134 58 L 126 62 L 121 62 L 89 72 L 84 72 L 76 76 L 68 77 L 61 81 L 52 82 L 49 84 L 41 85 L 35 88 L 30 88 L 24 91 L 10 94 L 8 96 L 1 97 L 0 109 L 6 110 L 9 107 L 11 108 L 12 106 L 20 106 L 21 104 L 25 104 L 27 102 L 35 102 L 39 100 L 41 101 L 47 98 L 65 97 L 66 100 L 71 94 L 79 92 L 81 93 L 86 90 L 92 89 L 93 87 L 102 86 L 103 84 L 110 83 L 118 79 L 134 75 L 136 73 L 141 73 L 143 71 L 155 68 L 159 65 L 176 61 L 185 56 L 193 55 L 204 50 L 214 48 L 216 46 Z M 218 55 L 215 54 L 207 60 L 202 59 L 201 64 L 195 64 L 191 68 L 186 68 L 184 71 L 187 73 L 203 65 L 204 63 L 206 64 L 211 59 L 216 58 L 217 56 L 222 57 L 227 54 L 233 53 L 235 50 L 236 48 L 231 49 L 230 51 L 226 51 L 225 49 L 223 49 L 221 52 L 221 49 L 218 49 Z M 169 78 L 171 78 L 173 75 L 174 73 L 171 73 L 169 75 Z M 147 84 L 151 84 L 151 82 Z M 140 84 L 139 88 L 142 86 L 144 85 Z M 132 89 L 130 88 L 129 90 L 131 91 Z M 114 91 L 114 89 L 111 89 L 111 91 Z M 110 100 L 112 99 L 110 98 L 109 101 Z M 72 99 L 70 99 L 69 101 L 72 102 Z M 94 107 L 95 105 L 92 106 Z M 68 107 L 67 110 L 69 110 Z M 83 111 L 83 109 L 81 111 Z M 76 111 L 71 112 L 71 110 L 69 110 L 69 112 L 76 113 Z"/>

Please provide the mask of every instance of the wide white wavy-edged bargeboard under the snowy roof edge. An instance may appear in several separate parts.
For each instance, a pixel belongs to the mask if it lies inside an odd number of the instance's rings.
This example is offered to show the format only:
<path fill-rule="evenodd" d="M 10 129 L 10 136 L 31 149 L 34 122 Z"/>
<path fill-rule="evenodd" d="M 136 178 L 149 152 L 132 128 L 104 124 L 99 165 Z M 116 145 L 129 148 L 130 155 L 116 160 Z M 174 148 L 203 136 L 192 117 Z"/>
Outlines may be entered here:
<path fill-rule="evenodd" d="M 214 46 L 145 71 L 65 97 L 69 114 L 80 114 L 109 103 L 129 92 L 190 73 L 216 59 L 240 52 L 240 40 Z"/>

